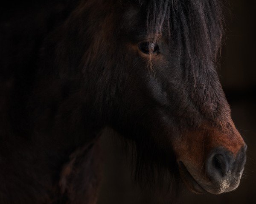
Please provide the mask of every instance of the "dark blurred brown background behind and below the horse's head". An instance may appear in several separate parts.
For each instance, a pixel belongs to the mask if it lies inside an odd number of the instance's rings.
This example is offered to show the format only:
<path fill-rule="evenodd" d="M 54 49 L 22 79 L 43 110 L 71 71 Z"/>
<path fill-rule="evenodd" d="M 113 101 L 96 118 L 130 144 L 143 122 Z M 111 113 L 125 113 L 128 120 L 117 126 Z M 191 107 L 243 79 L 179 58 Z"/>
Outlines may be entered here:
<path fill-rule="evenodd" d="M 218 73 L 233 121 L 248 145 L 247 164 L 237 190 L 222 195 L 182 193 L 180 204 L 256 204 L 256 0 L 228 0 L 225 44 Z M 122 145 L 111 133 L 102 136 L 104 160 L 98 204 L 167 204 L 132 183 Z"/>

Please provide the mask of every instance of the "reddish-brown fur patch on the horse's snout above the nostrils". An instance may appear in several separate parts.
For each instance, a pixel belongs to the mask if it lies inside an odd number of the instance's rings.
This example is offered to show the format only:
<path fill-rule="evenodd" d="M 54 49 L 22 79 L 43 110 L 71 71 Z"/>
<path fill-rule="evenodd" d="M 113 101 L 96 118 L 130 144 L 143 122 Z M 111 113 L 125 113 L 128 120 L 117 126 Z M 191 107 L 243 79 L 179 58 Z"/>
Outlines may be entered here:
<path fill-rule="evenodd" d="M 197 131 L 191 130 L 184 133 L 177 153 L 180 160 L 202 166 L 212 150 L 217 147 L 223 148 L 236 157 L 246 144 L 235 127 L 229 130 L 201 127 Z"/>

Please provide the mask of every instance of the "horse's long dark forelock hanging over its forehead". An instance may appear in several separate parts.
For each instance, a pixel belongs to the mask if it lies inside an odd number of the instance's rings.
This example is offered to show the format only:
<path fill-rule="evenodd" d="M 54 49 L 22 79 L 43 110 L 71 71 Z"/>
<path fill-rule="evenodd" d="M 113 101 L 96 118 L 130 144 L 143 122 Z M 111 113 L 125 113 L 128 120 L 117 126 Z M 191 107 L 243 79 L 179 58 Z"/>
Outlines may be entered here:
<path fill-rule="evenodd" d="M 148 35 L 168 31 L 190 68 L 216 62 L 223 35 L 220 0 L 133 0 L 147 14 Z"/>

